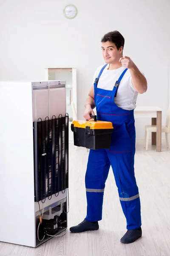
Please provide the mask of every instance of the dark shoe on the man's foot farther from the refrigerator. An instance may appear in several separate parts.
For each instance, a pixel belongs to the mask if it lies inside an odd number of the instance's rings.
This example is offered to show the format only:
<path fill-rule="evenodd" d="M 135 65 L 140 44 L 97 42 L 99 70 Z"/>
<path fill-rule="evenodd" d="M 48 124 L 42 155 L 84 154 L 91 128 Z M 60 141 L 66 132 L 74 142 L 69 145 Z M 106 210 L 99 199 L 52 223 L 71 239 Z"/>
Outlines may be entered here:
<path fill-rule="evenodd" d="M 142 236 L 141 227 L 136 230 L 127 230 L 125 235 L 120 239 L 120 241 L 124 244 L 130 244 L 136 241 L 139 237 Z"/>

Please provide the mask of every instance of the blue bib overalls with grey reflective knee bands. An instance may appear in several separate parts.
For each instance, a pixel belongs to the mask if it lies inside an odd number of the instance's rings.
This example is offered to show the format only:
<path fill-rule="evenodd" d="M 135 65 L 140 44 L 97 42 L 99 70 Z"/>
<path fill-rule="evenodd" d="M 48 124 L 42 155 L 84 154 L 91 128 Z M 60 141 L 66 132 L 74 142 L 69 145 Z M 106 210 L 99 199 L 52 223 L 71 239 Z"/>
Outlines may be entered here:
<path fill-rule="evenodd" d="M 106 66 L 107 64 L 102 67 L 94 82 L 94 101 L 97 119 L 112 122 L 113 133 L 109 150 L 91 149 L 89 152 L 85 175 L 86 220 L 100 221 L 102 219 L 105 181 L 112 166 L 120 203 L 127 221 L 127 229 L 133 230 L 141 227 L 140 198 L 134 175 L 135 121 L 133 110 L 119 108 L 114 102 L 120 81 L 127 69 L 116 81 L 113 90 L 104 90 L 98 88 L 97 83 Z"/>

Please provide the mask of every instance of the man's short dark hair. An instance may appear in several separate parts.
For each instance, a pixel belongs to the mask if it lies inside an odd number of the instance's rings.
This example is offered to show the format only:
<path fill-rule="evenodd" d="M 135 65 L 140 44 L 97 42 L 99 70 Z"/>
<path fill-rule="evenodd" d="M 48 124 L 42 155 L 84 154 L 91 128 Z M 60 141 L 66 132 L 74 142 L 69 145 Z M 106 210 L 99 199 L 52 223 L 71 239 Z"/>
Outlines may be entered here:
<path fill-rule="evenodd" d="M 102 43 L 107 41 L 110 41 L 113 44 L 115 44 L 118 50 L 121 46 L 124 47 L 125 44 L 125 38 L 117 30 L 108 32 L 102 37 Z"/>

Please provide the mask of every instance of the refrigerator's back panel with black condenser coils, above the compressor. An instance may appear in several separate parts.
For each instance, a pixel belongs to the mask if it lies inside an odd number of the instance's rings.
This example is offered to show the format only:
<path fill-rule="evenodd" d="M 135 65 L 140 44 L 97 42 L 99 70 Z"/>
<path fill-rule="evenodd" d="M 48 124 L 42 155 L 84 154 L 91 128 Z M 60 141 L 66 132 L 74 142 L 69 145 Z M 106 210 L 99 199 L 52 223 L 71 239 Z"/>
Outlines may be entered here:
<path fill-rule="evenodd" d="M 35 201 L 68 188 L 65 81 L 32 83 Z"/>

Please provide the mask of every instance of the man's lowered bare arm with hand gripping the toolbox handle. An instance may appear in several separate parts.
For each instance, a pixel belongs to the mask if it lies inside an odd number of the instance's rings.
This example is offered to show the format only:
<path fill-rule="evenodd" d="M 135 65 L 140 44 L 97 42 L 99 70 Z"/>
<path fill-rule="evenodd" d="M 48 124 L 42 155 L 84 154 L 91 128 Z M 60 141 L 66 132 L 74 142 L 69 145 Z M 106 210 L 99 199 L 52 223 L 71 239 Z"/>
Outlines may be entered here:
<path fill-rule="evenodd" d="M 94 84 L 92 84 L 90 91 L 88 93 L 88 97 L 85 101 L 85 113 L 84 113 L 84 118 L 86 120 L 91 119 L 90 115 L 94 115 L 93 109 L 95 108 L 94 104 Z"/>

